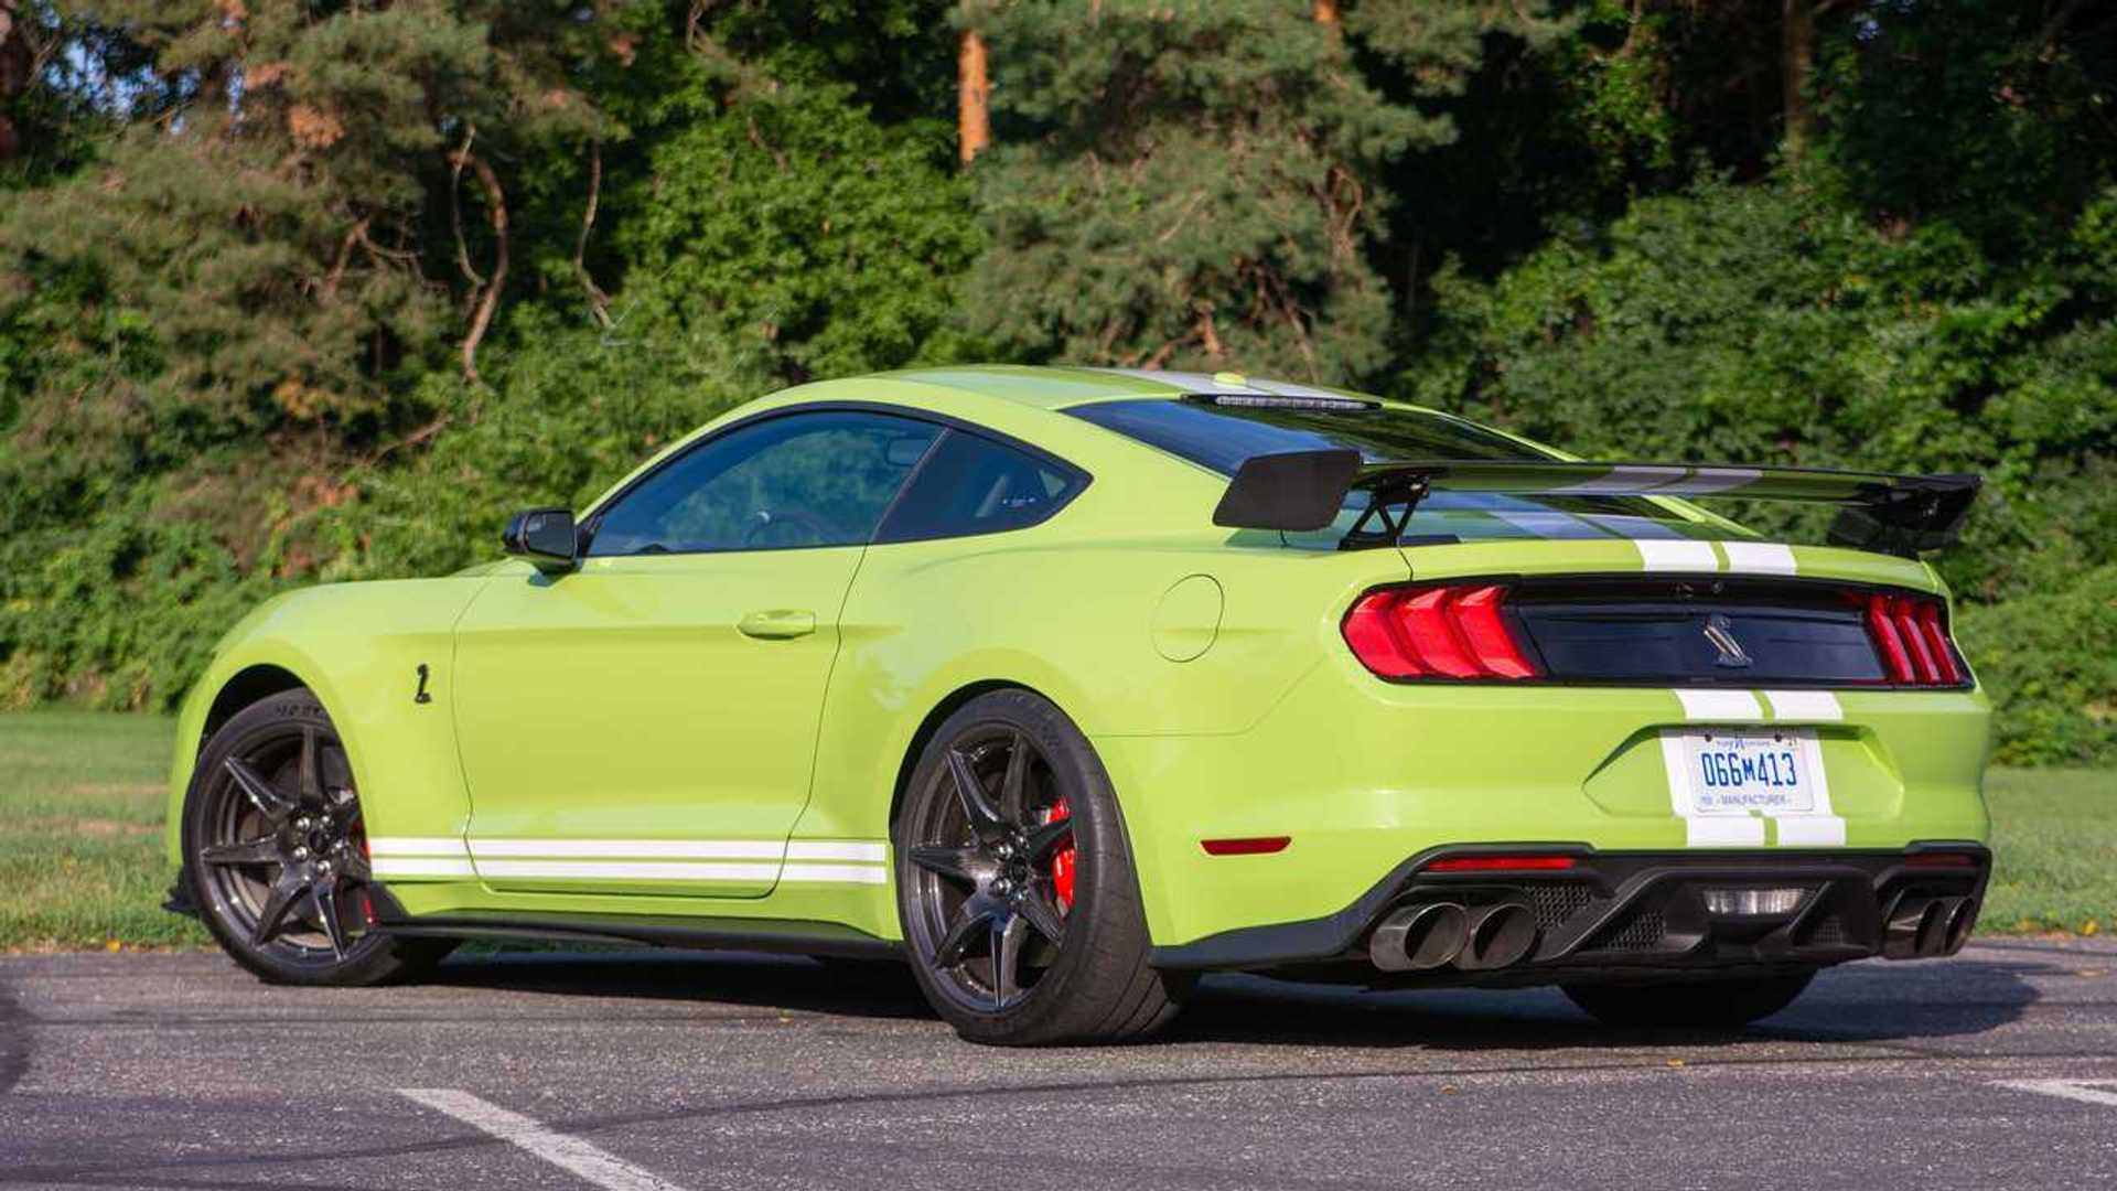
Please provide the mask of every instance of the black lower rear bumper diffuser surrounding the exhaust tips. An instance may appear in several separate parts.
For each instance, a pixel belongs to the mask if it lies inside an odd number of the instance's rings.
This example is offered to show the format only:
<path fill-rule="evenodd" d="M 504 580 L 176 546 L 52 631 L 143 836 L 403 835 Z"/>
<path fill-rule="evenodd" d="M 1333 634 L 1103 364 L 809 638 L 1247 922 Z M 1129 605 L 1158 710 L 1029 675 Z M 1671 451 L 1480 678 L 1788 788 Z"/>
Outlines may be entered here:
<path fill-rule="evenodd" d="M 1562 871 L 1433 871 L 1456 856 L 1564 856 Z M 1965 863 L 1935 865 L 1939 858 Z M 1156 947 L 1162 968 L 1315 968 L 1317 975 L 1389 983 L 1522 985 L 1575 979 L 1664 979 L 1823 966 L 1888 954 L 1914 958 L 1905 928 L 1920 905 L 1967 899 L 1960 932 L 1926 947 L 1950 954 L 1984 901 L 1990 852 L 1969 841 L 1901 850 L 1829 852 L 1598 852 L 1586 846 L 1476 843 L 1412 856 L 1363 896 L 1325 918 L 1249 926 Z M 1715 916 L 1706 890 L 1799 888 L 1791 911 Z M 1454 903 L 1526 905 L 1537 935 L 1524 958 L 1501 968 L 1382 973 L 1368 945 L 1404 907 Z M 1890 928 L 1890 922 L 1897 928 Z M 1336 973 L 1332 971 L 1336 968 Z"/>

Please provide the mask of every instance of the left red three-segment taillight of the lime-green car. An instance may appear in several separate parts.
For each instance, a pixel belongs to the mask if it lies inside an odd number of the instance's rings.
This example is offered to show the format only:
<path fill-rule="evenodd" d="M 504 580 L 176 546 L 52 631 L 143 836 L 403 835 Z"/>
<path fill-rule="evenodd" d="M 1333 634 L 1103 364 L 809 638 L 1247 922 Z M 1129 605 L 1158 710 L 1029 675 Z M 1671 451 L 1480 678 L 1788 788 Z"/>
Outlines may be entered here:
<path fill-rule="evenodd" d="M 1382 678 L 1535 678 L 1497 583 L 1385 587 L 1344 617 L 1344 642 Z"/>

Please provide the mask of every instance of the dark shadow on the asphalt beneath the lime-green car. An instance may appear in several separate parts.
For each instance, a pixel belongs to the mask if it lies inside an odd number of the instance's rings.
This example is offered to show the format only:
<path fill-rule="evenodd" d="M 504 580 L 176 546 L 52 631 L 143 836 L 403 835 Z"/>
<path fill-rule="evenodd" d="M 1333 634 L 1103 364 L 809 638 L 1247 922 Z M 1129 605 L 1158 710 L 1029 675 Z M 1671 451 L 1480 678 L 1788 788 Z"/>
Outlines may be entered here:
<path fill-rule="evenodd" d="M 1979 952 L 1869 960 L 1825 971 L 1793 1007 L 1738 1032 L 1613 1030 L 1552 988 L 1365 992 L 1215 975 L 1160 1036 L 1289 1047 L 1562 1049 L 1687 1043 L 1916 1043 L 1984 1034 L 2037 1000 L 2026 979 L 2062 956 Z M 868 1019 L 931 1019 L 908 968 L 701 952 L 485 952 L 449 960 L 436 985 L 578 998 L 686 1000 Z"/>

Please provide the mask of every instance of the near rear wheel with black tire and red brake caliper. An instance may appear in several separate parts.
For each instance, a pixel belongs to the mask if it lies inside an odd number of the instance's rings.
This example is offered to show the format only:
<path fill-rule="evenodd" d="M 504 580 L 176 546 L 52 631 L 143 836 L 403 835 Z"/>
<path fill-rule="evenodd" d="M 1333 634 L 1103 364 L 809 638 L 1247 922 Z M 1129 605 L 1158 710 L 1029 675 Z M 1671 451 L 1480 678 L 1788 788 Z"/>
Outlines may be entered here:
<path fill-rule="evenodd" d="M 959 793 L 965 771 L 987 799 L 982 826 Z M 893 831 L 912 977 L 963 1038 L 1128 1043 L 1181 1009 L 1194 979 L 1147 964 L 1139 877 L 1109 776 L 1050 701 L 995 691 L 948 716 L 912 769 Z M 1071 903 L 1061 905 L 1052 865 L 1067 846 Z"/>

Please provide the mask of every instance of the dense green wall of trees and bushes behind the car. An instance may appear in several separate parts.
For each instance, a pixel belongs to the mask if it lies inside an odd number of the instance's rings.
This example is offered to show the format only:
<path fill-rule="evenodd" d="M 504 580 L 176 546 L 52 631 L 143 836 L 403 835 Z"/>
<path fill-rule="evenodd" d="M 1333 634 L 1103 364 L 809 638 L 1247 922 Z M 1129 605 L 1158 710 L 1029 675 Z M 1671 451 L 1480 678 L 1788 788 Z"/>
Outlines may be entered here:
<path fill-rule="evenodd" d="M 1982 470 L 2003 757 L 2111 761 L 2113 110 L 2066 0 L 0 0 L 0 704 L 1003 358 Z"/>

